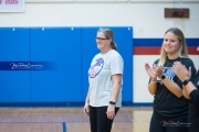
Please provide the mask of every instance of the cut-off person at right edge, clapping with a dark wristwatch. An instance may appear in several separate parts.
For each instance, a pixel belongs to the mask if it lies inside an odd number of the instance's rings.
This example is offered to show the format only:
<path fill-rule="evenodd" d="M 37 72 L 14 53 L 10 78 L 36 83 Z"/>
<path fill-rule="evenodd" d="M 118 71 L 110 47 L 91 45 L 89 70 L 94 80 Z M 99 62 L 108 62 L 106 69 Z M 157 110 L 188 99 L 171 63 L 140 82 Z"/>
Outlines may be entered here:
<path fill-rule="evenodd" d="M 197 51 L 199 52 L 199 46 Z M 176 62 L 172 67 L 175 74 L 184 84 L 184 96 L 190 99 L 188 111 L 189 132 L 199 132 L 199 70 L 195 80 L 190 81 L 191 67 L 187 70 L 180 62 Z"/>

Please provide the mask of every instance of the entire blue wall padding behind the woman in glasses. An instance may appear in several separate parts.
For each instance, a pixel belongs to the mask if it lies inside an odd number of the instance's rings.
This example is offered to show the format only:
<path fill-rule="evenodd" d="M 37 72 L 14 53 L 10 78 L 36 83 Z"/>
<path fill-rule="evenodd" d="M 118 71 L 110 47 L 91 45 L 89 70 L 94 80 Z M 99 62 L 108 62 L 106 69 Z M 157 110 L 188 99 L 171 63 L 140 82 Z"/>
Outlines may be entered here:
<path fill-rule="evenodd" d="M 100 53 L 100 26 L 0 28 L 0 63 L 50 62 L 51 70 L 0 70 L 0 102 L 82 102 L 87 70 Z M 133 101 L 133 29 L 111 28 L 124 58 L 123 101 Z"/>

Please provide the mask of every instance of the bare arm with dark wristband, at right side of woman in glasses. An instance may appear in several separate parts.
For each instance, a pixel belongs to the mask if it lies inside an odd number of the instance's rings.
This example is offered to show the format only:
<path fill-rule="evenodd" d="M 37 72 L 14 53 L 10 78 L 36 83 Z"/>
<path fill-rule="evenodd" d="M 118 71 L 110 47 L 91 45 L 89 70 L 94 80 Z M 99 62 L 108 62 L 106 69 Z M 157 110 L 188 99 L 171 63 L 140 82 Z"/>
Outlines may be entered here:
<path fill-rule="evenodd" d="M 109 101 L 116 102 L 122 86 L 122 74 L 112 75 L 113 88 Z M 115 105 L 108 105 L 106 114 L 111 120 L 115 118 Z"/>

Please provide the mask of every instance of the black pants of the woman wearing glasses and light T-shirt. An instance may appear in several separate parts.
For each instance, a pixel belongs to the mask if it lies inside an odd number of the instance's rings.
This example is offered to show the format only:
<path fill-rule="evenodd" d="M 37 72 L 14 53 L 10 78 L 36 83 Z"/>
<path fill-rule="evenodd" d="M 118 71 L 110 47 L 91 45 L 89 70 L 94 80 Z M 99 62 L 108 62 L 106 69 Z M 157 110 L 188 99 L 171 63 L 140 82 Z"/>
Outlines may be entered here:
<path fill-rule="evenodd" d="M 115 108 L 115 116 L 119 108 Z M 92 132 L 111 132 L 113 120 L 107 119 L 107 107 L 90 106 L 90 123 Z"/>

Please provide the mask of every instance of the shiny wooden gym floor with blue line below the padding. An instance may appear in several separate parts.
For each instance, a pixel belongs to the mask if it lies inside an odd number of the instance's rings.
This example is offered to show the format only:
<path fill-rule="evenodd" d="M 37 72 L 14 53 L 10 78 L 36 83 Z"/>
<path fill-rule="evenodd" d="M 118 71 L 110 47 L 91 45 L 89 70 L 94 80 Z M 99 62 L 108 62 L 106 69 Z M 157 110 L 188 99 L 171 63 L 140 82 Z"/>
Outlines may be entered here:
<path fill-rule="evenodd" d="M 151 107 L 123 107 L 112 132 L 148 132 Z M 83 108 L 0 108 L 0 132 L 91 132 Z"/>

